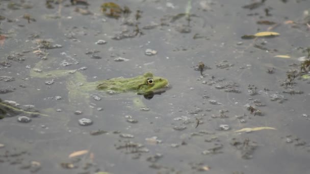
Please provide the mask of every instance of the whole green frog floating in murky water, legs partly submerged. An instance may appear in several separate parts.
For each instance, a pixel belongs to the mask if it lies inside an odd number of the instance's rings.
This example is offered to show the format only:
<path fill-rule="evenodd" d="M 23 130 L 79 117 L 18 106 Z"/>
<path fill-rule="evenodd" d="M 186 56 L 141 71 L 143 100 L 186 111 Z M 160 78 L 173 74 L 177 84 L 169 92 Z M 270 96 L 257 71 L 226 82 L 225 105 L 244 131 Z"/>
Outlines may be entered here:
<path fill-rule="evenodd" d="M 143 75 L 136 77 L 124 78 L 116 77 L 105 80 L 98 80 L 88 82 L 81 70 L 52 70 L 43 71 L 45 64 L 53 62 L 55 59 L 49 61 L 40 61 L 30 71 L 31 77 L 38 78 L 66 78 L 66 89 L 68 91 L 69 104 L 75 107 L 90 103 L 89 98 L 91 93 L 99 93 L 103 96 L 111 98 L 115 95 L 124 93 L 143 95 L 146 99 L 151 99 L 156 94 L 162 94 L 170 89 L 169 81 L 164 77 L 154 76 L 151 72 L 146 72 Z M 102 94 L 103 92 L 103 94 Z M 134 98 L 137 101 L 137 98 Z M 141 101 L 139 99 L 139 101 Z M 137 102 L 134 102 L 137 103 Z M 139 102 L 138 102 L 139 103 Z M 140 102 L 139 107 L 144 107 Z"/>

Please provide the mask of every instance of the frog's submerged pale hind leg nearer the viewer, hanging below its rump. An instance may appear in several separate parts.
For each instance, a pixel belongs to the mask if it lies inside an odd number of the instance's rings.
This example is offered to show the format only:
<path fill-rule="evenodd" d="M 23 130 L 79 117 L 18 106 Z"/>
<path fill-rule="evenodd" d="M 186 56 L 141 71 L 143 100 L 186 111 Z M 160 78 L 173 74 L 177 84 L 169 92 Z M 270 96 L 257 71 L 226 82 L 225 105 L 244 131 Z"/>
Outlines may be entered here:
<path fill-rule="evenodd" d="M 72 109 L 80 110 L 85 114 L 92 114 L 90 108 L 90 96 L 88 93 L 81 90 L 81 86 L 85 84 L 86 78 L 80 72 L 75 72 L 74 75 L 68 80 L 66 88 L 68 92 L 69 104 Z"/>

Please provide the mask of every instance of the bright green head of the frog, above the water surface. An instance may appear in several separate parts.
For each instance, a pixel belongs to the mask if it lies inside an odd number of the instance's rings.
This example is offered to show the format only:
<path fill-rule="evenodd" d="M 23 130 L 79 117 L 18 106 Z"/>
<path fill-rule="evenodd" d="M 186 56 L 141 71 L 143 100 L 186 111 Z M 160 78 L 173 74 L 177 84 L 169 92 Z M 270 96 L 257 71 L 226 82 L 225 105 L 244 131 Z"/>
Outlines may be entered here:
<path fill-rule="evenodd" d="M 143 77 L 144 81 L 139 84 L 138 94 L 140 95 L 160 93 L 169 88 L 168 80 L 163 77 L 153 76 L 150 72 L 143 74 Z"/>

